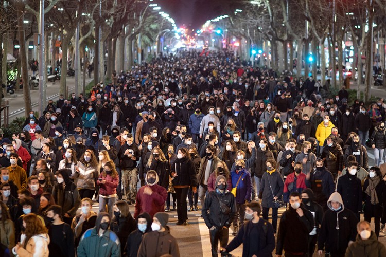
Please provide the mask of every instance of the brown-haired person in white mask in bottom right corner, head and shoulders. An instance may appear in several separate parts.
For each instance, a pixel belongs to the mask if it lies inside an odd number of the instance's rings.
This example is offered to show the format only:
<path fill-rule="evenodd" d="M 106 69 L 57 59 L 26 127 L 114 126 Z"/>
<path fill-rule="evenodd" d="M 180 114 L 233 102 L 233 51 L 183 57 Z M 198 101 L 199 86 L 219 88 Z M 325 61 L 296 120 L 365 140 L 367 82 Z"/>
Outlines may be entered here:
<path fill-rule="evenodd" d="M 357 232 L 357 240 L 353 244 L 348 246 L 345 256 L 386 256 L 386 247 L 378 241 L 376 234 L 371 231 L 369 222 L 359 222 L 357 224 Z"/>

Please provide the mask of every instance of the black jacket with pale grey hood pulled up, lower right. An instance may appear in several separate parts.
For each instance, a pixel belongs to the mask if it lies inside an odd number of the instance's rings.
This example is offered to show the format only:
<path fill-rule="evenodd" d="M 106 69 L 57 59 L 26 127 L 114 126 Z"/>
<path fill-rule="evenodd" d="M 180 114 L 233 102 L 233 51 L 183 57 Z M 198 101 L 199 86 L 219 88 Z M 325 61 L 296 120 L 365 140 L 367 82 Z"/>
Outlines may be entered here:
<path fill-rule="evenodd" d="M 340 203 L 340 209 L 332 209 L 331 201 Z M 355 241 L 358 219 L 352 211 L 344 208 L 342 197 L 338 192 L 331 194 L 327 206 L 329 210 L 324 213 L 318 237 L 318 250 L 326 248 L 326 252 L 333 255 L 343 255 L 348 242 Z"/>

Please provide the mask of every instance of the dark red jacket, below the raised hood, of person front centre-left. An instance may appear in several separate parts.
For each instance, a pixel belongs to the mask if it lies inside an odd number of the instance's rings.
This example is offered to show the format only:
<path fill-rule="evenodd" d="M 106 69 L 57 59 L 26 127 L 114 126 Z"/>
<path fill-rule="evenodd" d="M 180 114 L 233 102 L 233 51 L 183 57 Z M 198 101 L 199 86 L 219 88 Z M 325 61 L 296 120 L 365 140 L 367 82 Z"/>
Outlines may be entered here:
<path fill-rule="evenodd" d="M 151 195 L 144 194 L 145 187 L 150 187 L 153 193 Z M 153 218 L 157 212 L 163 212 L 165 210 L 165 201 L 167 197 L 166 189 L 157 184 L 153 186 L 143 186 L 138 190 L 134 218 L 139 214 L 147 212 L 150 217 Z"/>

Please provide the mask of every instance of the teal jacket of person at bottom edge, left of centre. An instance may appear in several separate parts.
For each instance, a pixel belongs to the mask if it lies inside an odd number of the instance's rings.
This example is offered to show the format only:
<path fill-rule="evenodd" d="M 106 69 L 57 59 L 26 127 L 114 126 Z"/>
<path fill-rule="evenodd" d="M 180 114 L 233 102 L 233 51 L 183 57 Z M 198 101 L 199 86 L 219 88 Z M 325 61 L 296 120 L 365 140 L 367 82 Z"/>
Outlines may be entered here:
<path fill-rule="evenodd" d="M 84 232 L 77 249 L 78 257 L 120 257 L 120 242 L 118 236 L 110 230 L 105 230 L 99 236 L 96 228 Z"/>

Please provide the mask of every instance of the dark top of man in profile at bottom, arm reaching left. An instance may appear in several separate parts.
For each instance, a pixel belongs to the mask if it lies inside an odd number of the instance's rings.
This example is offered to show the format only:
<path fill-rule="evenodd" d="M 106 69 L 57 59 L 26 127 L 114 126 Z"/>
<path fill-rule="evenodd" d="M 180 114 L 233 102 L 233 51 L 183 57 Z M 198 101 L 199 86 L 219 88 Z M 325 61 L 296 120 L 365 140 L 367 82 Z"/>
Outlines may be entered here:
<path fill-rule="evenodd" d="M 258 235 L 258 237 L 250 235 Z M 245 222 L 236 237 L 225 247 L 226 252 L 231 252 L 241 244 L 243 244 L 242 257 L 252 255 L 271 257 L 272 251 L 275 249 L 275 236 L 272 225 L 262 218 L 256 224 L 251 221 Z"/>

